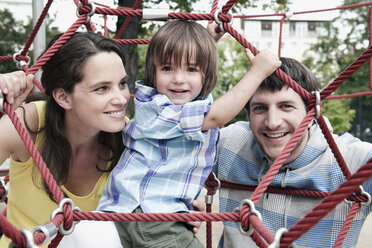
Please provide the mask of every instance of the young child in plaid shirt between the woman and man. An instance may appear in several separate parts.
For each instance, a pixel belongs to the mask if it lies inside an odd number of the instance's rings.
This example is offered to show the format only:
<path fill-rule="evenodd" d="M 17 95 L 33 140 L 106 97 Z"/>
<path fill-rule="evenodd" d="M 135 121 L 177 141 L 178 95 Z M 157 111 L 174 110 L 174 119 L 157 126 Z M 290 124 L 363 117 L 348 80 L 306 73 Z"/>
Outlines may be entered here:
<path fill-rule="evenodd" d="M 189 212 L 216 162 L 218 128 L 244 107 L 281 64 L 267 51 L 239 83 L 212 101 L 217 83 L 215 41 L 193 21 L 165 24 L 152 38 L 145 79 L 136 83 L 134 119 L 124 128 L 127 147 L 98 206 L 118 213 Z M 184 223 L 120 222 L 124 247 L 202 247 Z"/>

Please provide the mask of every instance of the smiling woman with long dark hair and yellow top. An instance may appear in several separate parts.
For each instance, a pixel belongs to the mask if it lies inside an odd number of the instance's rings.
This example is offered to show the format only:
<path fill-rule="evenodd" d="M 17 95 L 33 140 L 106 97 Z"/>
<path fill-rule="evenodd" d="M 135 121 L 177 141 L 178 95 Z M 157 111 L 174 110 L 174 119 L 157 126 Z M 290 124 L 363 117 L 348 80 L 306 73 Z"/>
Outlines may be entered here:
<path fill-rule="evenodd" d="M 124 64 L 113 40 L 75 33 L 42 68 L 46 100 L 16 110 L 58 185 L 82 211 L 96 209 L 123 150 L 120 130 L 130 97 Z M 32 76 L 23 72 L 1 75 L 0 89 L 13 107 L 31 88 Z M 7 218 L 31 230 L 49 222 L 58 205 L 6 115 L 0 130 L 0 164 L 10 157 Z M 0 247 L 9 242 L 3 237 Z"/>

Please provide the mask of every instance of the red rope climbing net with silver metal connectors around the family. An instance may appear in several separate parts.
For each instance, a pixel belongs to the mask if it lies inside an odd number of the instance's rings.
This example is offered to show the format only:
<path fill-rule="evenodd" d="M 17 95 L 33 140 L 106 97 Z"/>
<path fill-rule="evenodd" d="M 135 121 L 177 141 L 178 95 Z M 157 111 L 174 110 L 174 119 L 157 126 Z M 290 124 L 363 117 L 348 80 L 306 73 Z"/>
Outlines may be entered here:
<path fill-rule="evenodd" d="M 28 67 L 29 58 L 27 53 L 29 48 L 43 22 L 48 10 L 52 4 L 53 0 L 49 0 L 43 12 L 41 13 L 29 39 L 27 40 L 23 50 L 14 56 L 0 56 L 0 61 L 10 61 L 16 60 L 19 68 L 23 69 L 26 74 L 35 74 L 38 70 L 53 56 L 53 54 L 58 51 L 58 49 L 77 31 L 77 29 L 85 25 L 88 30 L 95 30 L 94 25 L 89 21 L 90 16 L 93 14 L 101 14 L 106 20 L 107 15 L 116 15 L 116 16 L 126 16 L 126 20 L 118 31 L 115 41 L 119 44 L 147 44 L 150 39 L 119 39 L 125 28 L 128 26 L 128 23 L 132 17 L 142 17 L 144 16 L 144 11 L 138 9 L 140 1 L 137 0 L 132 8 L 118 7 L 118 8 L 109 8 L 104 5 L 93 5 L 88 0 L 74 0 L 76 5 L 81 5 L 78 9 L 79 17 L 73 23 L 73 25 L 68 28 L 67 31 L 56 41 L 49 49 L 46 51 L 31 67 Z M 217 12 L 218 2 L 214 1 L 210 13 L 168 13 L 166 19 L 189 19 L 189 20 L 208 20 L 216 21 L 219 23 L 219 29 L 223 29 L 225 32 L 228 32 L 232 37 L 234 37 L 242 46 L 249 48 L 253 54 L 257 54 L 259 51 L 252 46 L 241 34 L 239 34 L 232 26 L 231 19 L 232 15 L 229 14 L 230 9 L 236 3 L 236 0 L 229 0 L 221 9 L 220 12 Z M 294 12 L 291 15 L 307 14 L 314 12 L 324 12 L 332 10 L 341 10 L 347 8 L 358 8 L 363 6 L 371 6 L 371 2 L 346 5 L 332 9 L 321 9 L 313 11 L 303 11 L 303 12 Z M 270 16 L 270 15 L 262 15 Z M 279 55 L 280 55 L 280 44 L 282 39 L 282 26 L 284 20 L 287 18 L 287 14 L 274 14 L 271 16 L 281 16 L 280 20 L 280 36 L 279 36 Z M 370 8 L 369 12 L 370 20 L 372 19 L 372 11 Z M 259 16 L 245 16 L 237 15 L 234 18 L 252 18 Z M 371 22 L 371 21 L 370 21 Z M 370 33 L 372 33 L 370 27 Z M 105 29 L 105 34 L 107 30 Z M 372 35 L 370 35 L 372 37 Z M 370 40 L 372 42 L 372 38 Z M 304 218 L 298 221 L 294 226 L 292 226 L 287 232 L 281 235 L 280 247 L 288 247 L 295 240 L 297 240 L 301 235 L 303 235 L 307 230 L 314 226 L 320 219 L 322 219 L 328 212 L 334 209 L 337 204 L 343 201 L 345 198 L 354 201 L 348 217 L 341 229 L 339 236 L 334 244 L 334 247 L 341 247 L 343 240 L 346 237 L 347 230 L 351 225 L 351 222 L 356 215 L 360 203 L 366 202 L 367 197 L 361 192 L 359 185 L 372 175 L 372 160 L 368 161 L 364 166 L 362 166 L 356 173 L 351 174 L 333 137 L 328 130 L 328 127 L 325 123 L 324 118 L 320 114 L 320 102 L 325 99 L 337 99 L 345 97 L 355 97 L 362 95 L 371 95 L 372 91 L 369 92 L 360 92 L 350 95 L 342 96 L 330 96 L 346 79 L 348 79 L 355 71 L 357 71 L 367 60 L 370 61 L 370 69 L 372 69 L 372 46 L 370 46 L 366 51 L 359 56 L 349 67 L 347 67 L 339 76 L 334 79 L 326 88 L 324 88 L 320 94 L 312 95 L 301 86 L 299 86 L 294 80 L 292 80 L 288 75 L 282 72 L 280 69 L 276 70 L 275 74 L 286 84 L 288 84 L 293 90 L 295 90 L 302 98 L 308 101 L 308 113 L 305 118 L 302 120 L 300 126 L 291 137 L 290 141 L 283 149 L 279 157 L 274 161 L 273 165 L 270 167 L 269 171 L 256 187 L 237 185 L 227 182 L 220 182 L 216 179 L 214 174 L 211 174 L 206 182 L 207 186 L 207 196 L 213 196 L 216 190 L 219 187 L 229 187 L 235 189 L 247 189 L 253 191 L 253 194 L 249 198 L 249 201 L 246 201 L 242 204 L 242 207 L 237 212 L 232 213 L 210 213 L 211 212 L 211 200 L 207 201 L 207 213 L 197 213 L 197 214 L 181 214 L 181 213 L 172 213 L 172 214 L 146 214 L 146 213 L 135 213 L 135 214 L 123 214 L 123 213 L 93 213 L 93 212 L 81 212 L 77 211 L 74 207 L 74 203 L 70 199 L 65 198 L 61 189 L 55 182 L 53 176 L 49 172 L 46 164 L 44 163 L 39 152 L 36 150 L 28 132 L 23 128 L 20 120 L 15 114 L 14 110 L 10 105 L 4 101 L 3 107 L 5 112 L 10 117 L 13 122 L 17 132 L 19 133 L 22 141 L 26 145 L 31 157 L 35 161 L 36 166 L 38 167 L 41 175 L 43 176 L 46 184 L 48 185 L 50 191 L 52 192 L 55 200 L 59 203 L 59 208 L 56 209 L 53 214 L 50 223 L 48 223 L 48 228 L 52 227 L 58 231 L 58 234 L 55 238 L 49 236 L 48 233 L 45 233 L 43 228 L 38 227 L 33 233 L 25 230 L 18 230 L 15 226 L 10 223 L 6 218 L 6 213 L 0 214 L 0 228 L 2 232 L 9 238 L 12 239 L 18 247 L 28 247 L 31 244 L 40 244 L 44 241 L 50 241 L 49 247 L 56 247 L 64 234 L 67 234 L 69 230 L 73 230 L 73 226 L 76 221 L 80 220 L 97 220 L 97 221 L 206 221 L 207 222 L 207 247 L 212 247 L 211 243 L 211 223 L 213 221 L 235 221 L 240 222 L 243 230 L 247 230 L 249 225 L 253 227 L 253 232 L 251 234 L 252 239 L 256 242 L 259 247 L 267 247 L 267 244 L 272 244 L 274 241 L 273 234 L 263 223 L 260 218 L 255 214 L 252 209 L 254 209 L 254 204 L 262 197 L 264 192 L 280 193 L 280 194 L 291 194 L 291 195 L 300 195 L 307 197 L 316 197 L 323 198 L 323 200 L 316 205 L 311 212 L 309 212 Z M 370 70 L 372 75 L 372 70 Z M 371 77 L 372 78 L 372 77 Z M 372 81 L 372 80 L 371 80 Z M 35 85 L 43 91 L 43 87 L 40 82 L 35 78 Z M 370 83 L 370 88 L 372 89 L 372 83 Z M 295 190 L 295 189 L 277 189 L 270 188 L 269 184 L 273 180 L 274 176 L 285 162 L 287 156 L 291 153 L 298 140 L 302 136 L 303 132 L 306 130 L 308 124 L 316 116 L 317 121 L 322 129 L 324 137 L 326 138 L 334 156 L 337 159 L 337 162 L 346 178 L 338 189 L 333 192 L 319 192 L 319 191 L 309 191 L 309 190 Z M 5 182 L 7 177 L 5 178 Z M 0 187 L 0 195 L 6 196 L 6 186 L 2 182 Z M 209 198 L 211 199 L 211 198 Z M 253 204 L 253 205 L 252 205 Z M 31 238 L 30 236 L 31 235 Z"/>

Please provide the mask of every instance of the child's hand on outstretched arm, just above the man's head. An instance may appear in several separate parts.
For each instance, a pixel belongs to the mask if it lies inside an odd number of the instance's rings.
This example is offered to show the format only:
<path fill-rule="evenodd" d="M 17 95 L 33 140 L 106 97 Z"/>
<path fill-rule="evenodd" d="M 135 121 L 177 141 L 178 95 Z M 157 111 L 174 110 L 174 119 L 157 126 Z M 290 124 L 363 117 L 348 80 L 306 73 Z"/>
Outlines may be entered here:
<path fill-rule="evenodd" d="M 261 75 L 262 78 L 270 76 L 277 68 L 282 65 L 279 57 L 269 50 L 263 49 L 256 56 L 253 55 L 251 50 L 245 49 L 249 62 L 251 63 L 251 69 L 257 75 Z"/>

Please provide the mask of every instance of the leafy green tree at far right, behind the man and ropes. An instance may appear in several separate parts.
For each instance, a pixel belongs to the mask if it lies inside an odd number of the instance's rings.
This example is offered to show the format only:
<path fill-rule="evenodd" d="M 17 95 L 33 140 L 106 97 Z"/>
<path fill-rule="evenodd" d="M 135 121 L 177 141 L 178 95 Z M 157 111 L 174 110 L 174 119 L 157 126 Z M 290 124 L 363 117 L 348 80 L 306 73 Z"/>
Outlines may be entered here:
<path fill-rule="evenodd" d="M 344 4 L 356 4 L 364 1 L 345 0 Z M 339 17 L 324 23 L 324 35 L 319 39 L 311 50 L 318 56 L 307 58 L 304 63 L 321 75 L 323 87 L 325 82 L 331 82 L 336 78 L 355 59 L 360 56 L 368 47 L 368 7 L 342 10 Z M 354 73 L 342 86 L 337 89 L 336 94 L 349 94 L 356 92 L 370 91 L 369 88 L 369 68 L 368 63 L 363 65 Z M 327 83 L 328 84 L 328 83 Z M 334 101 L 334 100 L 332 100 Z M 329 104 L 329 105 L 328 105 Z M 328 105 L 328 106 L 327 106 Z M 342 107 L 345 112 L 339 113 L 336 108 Z M 338 129 L 338 131 L 351 131 L 361 139 L 372 141 L 372 137 L 367 137 L 364 133 L 367 127 L 372 125 L 371 113 L 372 97 L 358 97 L 350 100 L 343 100 L 338 104 L 324 102 L 323 114 L 330 116 L 330 119 L 337 119 L 341 115 L 344 122 L 350 122 L 351 128 Z M 352 109 L 353 111 L 349 111 Z M 356 118 L 353 118 L 355 112 Z M 336 124 L 337 125 L 337 124 Z"/>

